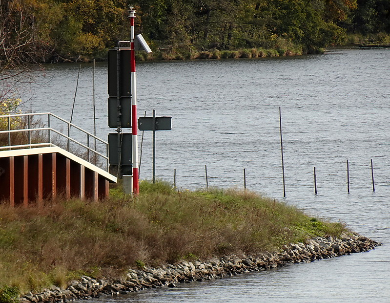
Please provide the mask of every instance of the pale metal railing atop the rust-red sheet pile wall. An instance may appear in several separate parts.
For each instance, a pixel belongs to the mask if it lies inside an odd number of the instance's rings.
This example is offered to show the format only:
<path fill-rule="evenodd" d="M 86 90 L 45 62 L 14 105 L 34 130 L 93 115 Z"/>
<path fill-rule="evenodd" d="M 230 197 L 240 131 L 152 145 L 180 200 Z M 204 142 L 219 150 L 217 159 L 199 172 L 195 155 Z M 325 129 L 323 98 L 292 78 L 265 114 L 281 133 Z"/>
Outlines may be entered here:
<path fill-rule="evenodd" d="M 34 124 L 36 124 L 38 127 L 34 128 L 32 127 L 32 118 L 39 116 L 38 121 L 36 121 Z M 27 118 L 27 123 L 26 121 L 21 121 L 18 120 L 18 118 L 26 117 Z M 47 117 L 47 127 L 44 127 L 44 121 Z M 61 131 L 55 130 L 54 128 L 51 127 L 51 124 L 53 124 L 53 121 L 51 121 L 51 118 L 55 118 L 57 121 L 65 123 L 66 124 L 66 129 L 67 129 L 67 134 L 62 133 Z M 70 143 L 73 142 L 76 145 L 82 147 L 83 149 L 86 150 L 86 160 L 90 163 L 91 162 L 91 153 L 95 155 L 95 160 L 96 156 L 99 156 L 105 160 L 105 170 L 108 172 L 109 169 L 109 164 L 108 164 L 108 142 L 98 138 L 97 136 L 91 134 L 90 132 L 83 130 L 82 128 L 78 127 L 77 125 L 74 125 L 73 123 L 70 123 L 66 121 L 65 119 L 62 119 L 61 117 L 51 113 L 51 112 L 42 112 L 42 113 L 24 113 L 24 114 L 13 114 L 13 115 L 3 115 L 0 116 L 0 121 L 6 119 L 6 130 L 0 130 L 0 135 L 1 134 L 8 134 L 8 145 L 4 145 L 0 147 L 1 150 L 13 150 L 13 149 L 21 149 L 21 148 L 37 148 L 37 147 L 43 147 L 43 146 L 59 146 L 58 144 L 55 144 L 53 142 L 52 134 L 58 134 L 61 137 L 65 138 L 67 141 L 66 148 L 64 148 L 66 151 L 72 152 L 70 149 Z M 3 120 L 3 121 L 4 121 Z M 12 122 L 16 120 L 16 125 L 15 127 L 12 126 Z M 26 128 L 21 128 L 23 125 L 26 126 Z M 42 127 L 43 126 L 43 127 Z M 19 127 L 19 128 L 18 128 Z M 70 130 L 71 128 L 80 131 L 83 135 L 86 135 L 86 143 L 83 144 L 79 142 L 76 139 L 71 138 L 70 136 Z M 39 142 L 39 143 L 31 143 L 31 133 L 34 131 L 47 131 L 47 140 L 43 139 L 43 141 L 47 142 Z M 12 145 L 11 139 L 12 139 L 12 134 L 13 133 L 25 133 L 27 132 L 27 142 L 26 144 L 17 144 L 17 145 Z M 91 138 L 94 140 L 94 148 L 91 147 Z M 96 148 L 96 143 L 100 142 L 103 144 L 103 150 L 105 148 L 105 155 L 99 151 L 97 151 Z M 63 147 L 61 147 L 63 148 Z M 94 165 L 97 165 L 96 161 L 95 163 L 92 163 Z"/>

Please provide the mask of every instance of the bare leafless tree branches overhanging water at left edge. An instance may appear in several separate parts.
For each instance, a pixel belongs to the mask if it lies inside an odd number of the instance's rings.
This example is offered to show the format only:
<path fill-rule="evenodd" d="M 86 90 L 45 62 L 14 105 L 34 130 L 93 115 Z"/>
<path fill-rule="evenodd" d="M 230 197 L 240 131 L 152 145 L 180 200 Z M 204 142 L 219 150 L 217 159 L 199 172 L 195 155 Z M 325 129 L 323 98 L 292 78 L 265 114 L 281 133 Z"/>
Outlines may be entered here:
<path fill-rule="evenodd" d="M 0 0 L 0 101 L 19 98 L 18 84 L 47 83 L 37 66 L 50 49 L 38 29 L 27 1 Z"/>

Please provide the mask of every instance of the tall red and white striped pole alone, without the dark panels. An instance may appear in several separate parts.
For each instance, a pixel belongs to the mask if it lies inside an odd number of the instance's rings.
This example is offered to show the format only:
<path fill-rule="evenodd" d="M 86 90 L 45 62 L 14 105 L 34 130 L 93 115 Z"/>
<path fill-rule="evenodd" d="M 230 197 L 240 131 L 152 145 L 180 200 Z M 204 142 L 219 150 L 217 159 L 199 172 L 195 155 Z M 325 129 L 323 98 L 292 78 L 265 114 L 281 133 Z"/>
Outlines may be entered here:
<path fill-rule="evenodd" d="M 137 137 L 137 88 L 136 88 L 136 78 L 135 78 L 135 49 L 134 49 L 134 19 L 135 19 L 135 9 L 130 7 L 129 11 L 130 17 L 130 46 L 131 46 L 131 126 L 132 126 L 132 164 L 133 164 L 133 195 L 138 195 L 140 193 L 139 180 L 138 180 L 138 137 Z"/>

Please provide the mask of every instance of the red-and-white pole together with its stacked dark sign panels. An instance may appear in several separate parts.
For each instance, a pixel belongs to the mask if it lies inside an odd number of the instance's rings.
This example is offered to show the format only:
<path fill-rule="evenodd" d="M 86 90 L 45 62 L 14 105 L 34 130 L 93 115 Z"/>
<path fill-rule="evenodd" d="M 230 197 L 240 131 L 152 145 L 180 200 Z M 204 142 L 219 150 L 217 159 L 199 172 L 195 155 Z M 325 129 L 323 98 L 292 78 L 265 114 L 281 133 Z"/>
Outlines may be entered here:
<path fill-rule="evenodd" d="M 138 180 L 138 138 L 137 138 L 137 90 L 134 48 L 135 9 L 130 7 L 130 41 L 118 42 L 118 47 L 108 52 L 108 125 L 117 128 L 110 133 L 109 162 L 117 170 L 118 177 L 132 176 L 133 194 L 139 194 Z M 138 41 L 148 53 L 151 49 L 142 35 Z M 121 45 L 127 46 L 121 46 Z M 131 128 L 130 133 L 122 129 Z M 129 139 L 131 135 L 131 140 Z M 115 140 L 115 137 L 117 140 Z"/>

